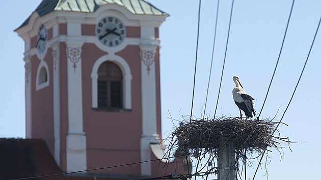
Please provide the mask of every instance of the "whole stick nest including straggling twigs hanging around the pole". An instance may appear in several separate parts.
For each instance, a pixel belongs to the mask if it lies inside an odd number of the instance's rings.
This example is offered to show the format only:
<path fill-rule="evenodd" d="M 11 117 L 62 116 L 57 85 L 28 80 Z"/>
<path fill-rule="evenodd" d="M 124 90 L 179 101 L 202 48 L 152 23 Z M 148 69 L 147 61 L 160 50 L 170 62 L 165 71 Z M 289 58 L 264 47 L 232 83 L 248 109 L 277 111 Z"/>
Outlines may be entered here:
<path fill-rule="evenodd" d="M 197 164 L 201 164 L 202 167 L 198 169 L 197 165 L 195 174 L 217 173 L 216 162 L 220 143 L 230 141 L 235 144 L 235 168 L 239 172 L 239 160 L 250 163 L 255 157 L 263 156 L 269 151 L 268 147 L 279 150 L 282 148 L 281 143 L 290 143 L 288 138 L 274 135 L 278 132 L 276 125 L 279 122 L 272 120 L 221 117 L 185 121 L 173 131 L 167 154 L 174 153 L 176 157 L 186 157 L 186 161 L 197 159 Z M 256 155 L 253 158 L 254 153 Z M 191 159 L 188 160 L 187 156 Z M 199 163 L 201 160 L 205 162 Z"/>

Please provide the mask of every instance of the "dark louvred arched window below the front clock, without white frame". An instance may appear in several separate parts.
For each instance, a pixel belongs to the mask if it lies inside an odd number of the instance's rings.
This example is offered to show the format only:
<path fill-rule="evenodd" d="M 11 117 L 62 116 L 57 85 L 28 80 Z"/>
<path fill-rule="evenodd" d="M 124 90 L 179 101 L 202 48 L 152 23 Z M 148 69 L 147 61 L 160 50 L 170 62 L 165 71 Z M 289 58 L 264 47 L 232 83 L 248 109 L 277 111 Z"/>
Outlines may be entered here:
<path fill-rule="evenodd" d="M 99 66 L 98 108 L 123 108 L 122 79 L 123 75 L 116 64 L 108 61 Z"/>

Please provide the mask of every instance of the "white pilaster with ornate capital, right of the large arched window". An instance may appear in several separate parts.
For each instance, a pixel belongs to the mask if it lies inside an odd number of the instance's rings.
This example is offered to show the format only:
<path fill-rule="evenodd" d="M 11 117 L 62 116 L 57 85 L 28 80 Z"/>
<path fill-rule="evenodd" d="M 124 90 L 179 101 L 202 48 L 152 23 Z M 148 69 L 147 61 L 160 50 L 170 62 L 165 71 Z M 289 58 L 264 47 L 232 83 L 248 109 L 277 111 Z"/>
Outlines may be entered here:
<path fill-rule="evenodd" d="M 151 160 L 151 140 L 159 139 L 157 134 L 157 107 L 156 107 L 156 72 L 155 49 L 153 44 L 140 45 L 141 48 L 141 82 L 142 82 L 142 137 L 141 161 Z M 147 71 L 143 71 L 147 66 Z M 141 164 L 141 174 L 151 175 L 151 163 Z"/>

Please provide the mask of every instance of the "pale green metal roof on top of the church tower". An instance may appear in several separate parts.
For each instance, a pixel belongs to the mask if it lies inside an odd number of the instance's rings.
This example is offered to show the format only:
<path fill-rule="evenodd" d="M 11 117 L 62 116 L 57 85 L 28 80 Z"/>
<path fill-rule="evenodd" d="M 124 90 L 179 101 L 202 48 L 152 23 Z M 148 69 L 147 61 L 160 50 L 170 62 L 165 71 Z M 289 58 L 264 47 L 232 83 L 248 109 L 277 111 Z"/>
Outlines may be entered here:
<path fill-rule="evenodd" d="M 139 15 L 165 15 L 162 10 L 151 5 L 147 0 L 43 0 L 37 7 L 35 12 L 40 17 L 49 14 L 52 11 L 73 11 L 73 12 L 95 12 L 100 6 L 106 4 L 117 4 L 126 8 L 132 14 Z M 28 24 L 29 19 L 26 19 L 18 28 Z M 17 29 L 18 29 L 17 28 Z"/>

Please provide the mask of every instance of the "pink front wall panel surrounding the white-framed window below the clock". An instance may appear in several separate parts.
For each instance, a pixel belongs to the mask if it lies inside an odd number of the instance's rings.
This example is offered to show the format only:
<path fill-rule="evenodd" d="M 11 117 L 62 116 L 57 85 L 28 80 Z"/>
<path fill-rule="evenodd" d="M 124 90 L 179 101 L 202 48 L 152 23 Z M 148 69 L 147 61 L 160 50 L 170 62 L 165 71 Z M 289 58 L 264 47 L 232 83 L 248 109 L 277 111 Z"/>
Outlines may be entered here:
<path fill-rule="evenodd" d="M 83 45 L 83 111 L 89 169 L 140 161 L 142 110 L 139 48 L 127 46 L 118 54 L 127 59 L 132 73 L 132 109 L 129 111 L 114 112 L 92 108 L 91 70 L 96 59 L 104 54 L 106 53 L 93 44 Z M 124 172 L 139 175 L 140 165 L 97 171 L 110 174 Z"/>

